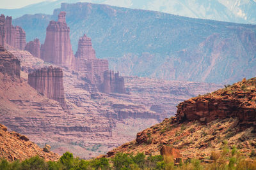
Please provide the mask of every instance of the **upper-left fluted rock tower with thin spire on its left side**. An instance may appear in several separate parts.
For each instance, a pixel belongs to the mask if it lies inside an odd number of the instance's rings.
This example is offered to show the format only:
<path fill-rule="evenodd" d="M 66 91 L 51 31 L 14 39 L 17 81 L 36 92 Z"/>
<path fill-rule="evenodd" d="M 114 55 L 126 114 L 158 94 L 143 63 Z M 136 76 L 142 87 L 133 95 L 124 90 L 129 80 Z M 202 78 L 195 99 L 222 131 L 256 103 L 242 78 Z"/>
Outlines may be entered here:
<path fill-rule="evenodd" d="M 26 46 L 26 32 L 19 26 L 13 27 L 12 17 L 5 19 L 6 43 L 10 46 L 24 50 Z"/>

